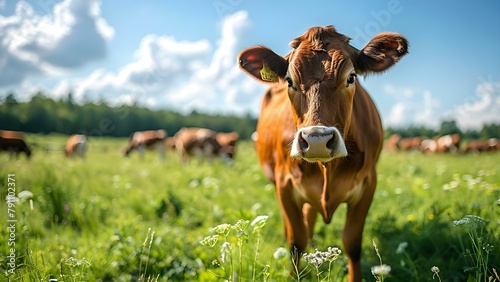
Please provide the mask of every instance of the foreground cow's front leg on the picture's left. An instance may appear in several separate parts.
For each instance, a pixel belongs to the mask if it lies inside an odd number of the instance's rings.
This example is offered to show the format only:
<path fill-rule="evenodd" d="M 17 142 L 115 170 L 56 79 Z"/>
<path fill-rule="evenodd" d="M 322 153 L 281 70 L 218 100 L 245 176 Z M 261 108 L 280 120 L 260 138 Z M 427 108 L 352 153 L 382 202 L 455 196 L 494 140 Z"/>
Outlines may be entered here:
<path fill-rule="evenodd" d="M 302 209 L 297 206 L 294 201 L 293 185 L 291 181 L 287 181 L 285 185 L 276 188 L 278 200 L 280 201 L 283 212 L 283 220 L 285 222 L 288 246 L 292 255 L 292 263 L 296 264 L 297 269 L 300 269 L 300 257 L 308 243 L 307 229 L 304 224 Z"/>

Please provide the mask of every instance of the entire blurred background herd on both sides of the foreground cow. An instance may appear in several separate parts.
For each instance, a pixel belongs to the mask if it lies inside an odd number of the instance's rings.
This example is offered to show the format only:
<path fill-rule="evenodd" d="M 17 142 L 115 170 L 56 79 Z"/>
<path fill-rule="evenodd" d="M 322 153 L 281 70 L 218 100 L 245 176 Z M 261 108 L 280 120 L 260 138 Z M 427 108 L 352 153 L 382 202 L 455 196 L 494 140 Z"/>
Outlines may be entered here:
<path fill-rule="evenodd" d="M 252 138 L 256 141 L 257 134 Z M 142 158 L 145 150 L 157 150 L 160 160 L 165 159 L 166 149 L 171 149 L 179 155 L 183 162 L 189 158 L 211 160 L 214 158 L 233 159 L 237 132 L 215 132 L 206 128 L 182 128 L 174 136 L 168 137 L 165 130 L 137 131 L 130 135 L 129 144 L 124 149 L 124 156 L 136 150 Z M 390 152 L 415 151 L 422 153 L 480 153 L 500 150 L 500 141 L 496 138 L 488 140 L 470 140 L 461 146 L 459 134 L 426 137 L 402 138 L 399 134 L 391 135 L 385 141 Z M 64 154 L 67 157 L 84 158 L 88 150 L 88 137 L 83 134 L 69 136 Z M 0 152 L 10 152 L 19 155 L 25 153 L 29 158 L 31 148 L 28 146 L 23 132 L 0 130 Z"/>

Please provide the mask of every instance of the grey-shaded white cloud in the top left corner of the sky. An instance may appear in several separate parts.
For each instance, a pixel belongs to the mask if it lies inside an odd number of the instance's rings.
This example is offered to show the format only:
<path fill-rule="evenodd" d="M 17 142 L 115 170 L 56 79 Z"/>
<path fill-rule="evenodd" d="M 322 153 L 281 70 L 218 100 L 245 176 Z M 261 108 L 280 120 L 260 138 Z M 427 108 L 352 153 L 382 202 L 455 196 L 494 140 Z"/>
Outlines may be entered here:
<path fill-rule="evenodd" d="M 0 30 L 0 87 L 101 59 L 114 35 L 99 0 L 65 0 L 44 13 L 18 1 L 12 15 L 0 16 Z"/>

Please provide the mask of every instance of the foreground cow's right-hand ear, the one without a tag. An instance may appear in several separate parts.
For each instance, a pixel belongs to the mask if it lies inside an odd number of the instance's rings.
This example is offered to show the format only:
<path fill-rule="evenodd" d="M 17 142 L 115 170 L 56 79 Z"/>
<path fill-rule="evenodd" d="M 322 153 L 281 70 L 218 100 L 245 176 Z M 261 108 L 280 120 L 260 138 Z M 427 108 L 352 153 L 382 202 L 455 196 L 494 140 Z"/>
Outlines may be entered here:
<path fill-rule="evenodd" d="M 358 53 L 357 72 L 383 72 L 408 53 L 408 41 L 394 32 L 383 32 L 375 35 Z"/>

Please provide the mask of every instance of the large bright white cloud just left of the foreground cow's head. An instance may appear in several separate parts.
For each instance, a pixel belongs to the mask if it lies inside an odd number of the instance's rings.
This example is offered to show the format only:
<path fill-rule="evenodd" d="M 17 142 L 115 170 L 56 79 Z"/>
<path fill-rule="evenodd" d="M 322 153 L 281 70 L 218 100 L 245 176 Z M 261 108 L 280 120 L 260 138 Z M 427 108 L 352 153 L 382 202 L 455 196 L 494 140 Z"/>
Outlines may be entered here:
<path fill-rule="evenodd" d="M 111 104 L 139 102 L 182 112 L 256 112 L 263 87 L 236 64 L 249 26 L 244 11 L 227 16 L 215 46 L 204 39 L 179 41 L 171 36 L 147 35 L 134 60 L 118 71 L 96 70 L 85 78 L 63 81 L 54 91 L 64 95 L 72 86 L 77 99 L 94 100 L 104 93 Z"/>

